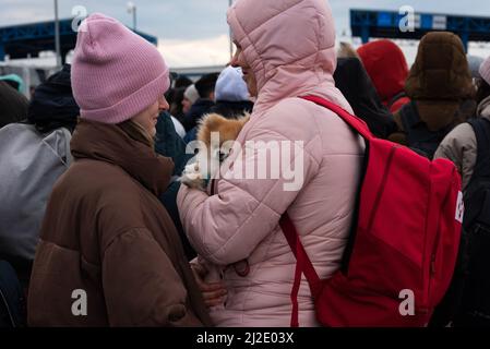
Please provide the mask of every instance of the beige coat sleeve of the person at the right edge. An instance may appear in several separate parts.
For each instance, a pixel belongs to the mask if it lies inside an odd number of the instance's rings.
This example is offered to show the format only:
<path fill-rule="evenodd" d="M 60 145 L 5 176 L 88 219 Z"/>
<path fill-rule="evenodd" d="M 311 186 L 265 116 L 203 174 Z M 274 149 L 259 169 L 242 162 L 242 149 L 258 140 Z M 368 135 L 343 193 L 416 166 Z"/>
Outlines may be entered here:
<path fill-rule="evenodd" d="M 469 123 L 462 123 L 451 131 L 439 145 L 434 159 L 453 161 L 463 177 L 463 189 L 469 183 L 477 161 L 477 140 Z"/>

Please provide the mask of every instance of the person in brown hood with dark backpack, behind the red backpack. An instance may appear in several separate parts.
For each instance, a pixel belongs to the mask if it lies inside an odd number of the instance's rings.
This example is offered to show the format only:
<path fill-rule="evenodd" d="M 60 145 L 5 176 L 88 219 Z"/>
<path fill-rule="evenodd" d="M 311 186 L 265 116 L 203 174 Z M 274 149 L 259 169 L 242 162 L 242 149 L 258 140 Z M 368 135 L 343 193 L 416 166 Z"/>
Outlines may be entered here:
<path fill-rule="evenodd" d="M 411 103 L 394 115 L 397 130 L 389 139 L 431 159 L 445 135 L 476 110 L 461 38 L 447 32 L 423 36 L 405 92 Z"/>

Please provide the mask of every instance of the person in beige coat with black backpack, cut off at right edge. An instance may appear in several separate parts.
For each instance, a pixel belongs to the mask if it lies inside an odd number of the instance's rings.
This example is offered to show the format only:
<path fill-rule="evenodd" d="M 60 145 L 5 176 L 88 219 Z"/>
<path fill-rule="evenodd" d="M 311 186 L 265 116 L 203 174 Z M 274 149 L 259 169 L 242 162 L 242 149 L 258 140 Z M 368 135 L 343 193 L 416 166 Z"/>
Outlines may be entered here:
<path fill-rule="evenodd" d="M 480 65 L 477 118 L 456 127 L 435 158 L 452 160 L 465 191 L 464 243 L 458 274 L 439 323 L 490 327 L 490 57 Z M 447 308 L 449 306 L 449 308 Z"/>

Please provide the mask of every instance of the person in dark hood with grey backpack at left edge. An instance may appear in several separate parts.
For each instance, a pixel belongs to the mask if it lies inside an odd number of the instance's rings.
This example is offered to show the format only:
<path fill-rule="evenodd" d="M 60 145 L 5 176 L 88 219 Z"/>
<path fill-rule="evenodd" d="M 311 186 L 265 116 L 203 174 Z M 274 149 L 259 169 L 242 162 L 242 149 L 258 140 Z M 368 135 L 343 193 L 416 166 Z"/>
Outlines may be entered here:
<path fill-rule="evenodd" d="M 24 122 L 0 130 L 0 257 L 12 264 L 25 289 L 46 202 L 70 166 L 79 115 L 67 64 L 35 89 Z"/>

